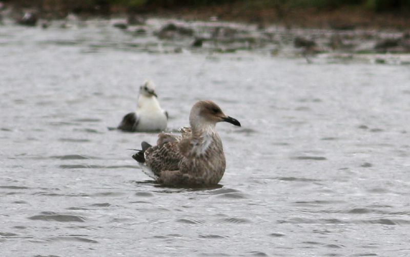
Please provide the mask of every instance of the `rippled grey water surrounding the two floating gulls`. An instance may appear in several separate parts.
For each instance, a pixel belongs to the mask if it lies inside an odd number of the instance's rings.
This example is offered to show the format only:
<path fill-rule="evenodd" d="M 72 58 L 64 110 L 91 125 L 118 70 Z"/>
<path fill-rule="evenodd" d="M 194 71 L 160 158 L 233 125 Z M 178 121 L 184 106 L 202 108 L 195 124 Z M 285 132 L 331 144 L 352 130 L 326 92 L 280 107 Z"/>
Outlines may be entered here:
<path fill-rule="evenodd" d="M 408 256 L 405 65 L 172 49 L 104 22 L 0 27 L 3 256 Z M 171 49 L 171 50 L 170 50 Z M 169 129 L 211 99 L 220 186 L 155 185 L 110 131 L 158 85 Z"/>

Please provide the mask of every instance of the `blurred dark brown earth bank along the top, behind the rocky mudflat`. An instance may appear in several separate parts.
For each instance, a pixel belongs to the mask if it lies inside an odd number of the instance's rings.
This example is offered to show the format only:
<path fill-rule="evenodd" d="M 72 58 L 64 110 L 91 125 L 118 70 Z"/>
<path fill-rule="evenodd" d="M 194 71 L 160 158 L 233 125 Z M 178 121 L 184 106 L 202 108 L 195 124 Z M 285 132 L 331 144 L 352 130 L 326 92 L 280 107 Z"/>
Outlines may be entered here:
<path fill-rule="evenodd" d="M 192 3 L 191 3 L 192 2 Z M 115 17 L 126 14 L 195 20 L 216 17 L 220 21 L 245 22 L 258 26 L 326 29 L 410 29 L 410 6 L 373 6 L 365 1 L 111 1 L 44 0 L 5 1 L 3 6 L 21 13 L 35 11 L 46 19 L 64 18 L 70 13 L 83 17 Z M 303 2 L 303 1 L 299 1 Z M 329 3 L 327 3 L 329 2 Z M 354 2 L 354 1 L 351 1 Z M 363 2 L 363 3 L 361 3 Z M 368 0 L 367 2 L 372 2 Z M 380 2 L 380 1 L 379 1 Z M 393 1 L 392 1 L 393 2 Z M 398 1 L 396 1 L 398 2 Z M 319 4 L 321 3 L 321 4 Z M 327 3 L 327 4 L 326 4 Z"/>

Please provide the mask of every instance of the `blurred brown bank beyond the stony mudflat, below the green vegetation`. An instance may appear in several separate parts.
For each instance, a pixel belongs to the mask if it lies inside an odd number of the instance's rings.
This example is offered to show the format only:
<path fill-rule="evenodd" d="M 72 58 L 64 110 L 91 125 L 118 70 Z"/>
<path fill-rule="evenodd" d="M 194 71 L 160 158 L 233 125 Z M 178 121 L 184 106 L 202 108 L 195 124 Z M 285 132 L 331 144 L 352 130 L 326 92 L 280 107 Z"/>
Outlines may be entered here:
<path fill-rule="evenodd" d="M 58 2 L 58 1 L 57 1 Z M 410 12 L 389 11 L 374 12 L 362 6 L 342 6 L 333 9 L 318 8 L 285 8 L 261 6 L 246 2 L 218 4 L 209 6 L 172 7 L 148 6 L 137 9 L 127 9 L 124 5 L 110 6 L 68 6 L 67 4 L 31 4 L 3 3 L 3 9 L 9 9 L 14 16 L 25 10 L 36 12 L 39 18 L 52 20 L 62 19 L 74 13 L 85 19 L 91 17 L 120 17 L 135 15 L 141 17 L 177 18 L 186 21 L 209 21 L 217 19 L 223 22 L 240 22 L 254 24 L 261 28 L 265 26 L 284 26 L 286 28 L 307 29 L 382 29 L 410 30 Z M 256 3 L 256 2 L 255 2 Z M 0 2 L 0 6 L 2 3 Z M 0 8 L 2 9 L 2 8 Z"/>

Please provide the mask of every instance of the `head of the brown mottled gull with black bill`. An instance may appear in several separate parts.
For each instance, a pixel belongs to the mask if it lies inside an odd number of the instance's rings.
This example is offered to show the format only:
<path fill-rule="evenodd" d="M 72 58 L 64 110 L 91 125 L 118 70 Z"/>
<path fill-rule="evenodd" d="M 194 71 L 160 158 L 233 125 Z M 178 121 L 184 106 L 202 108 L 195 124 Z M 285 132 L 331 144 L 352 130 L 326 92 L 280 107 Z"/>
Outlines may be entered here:
<path fill-rule="evenodd" d="M 212 101 L 198 101 L 192 107 L 189 115 L 189 123 L 191 127 L 214 127 L 218 122 L 229 122 L 235 126 L 240 126 L 238 120 L 225 115 L 221 108 Z"/>

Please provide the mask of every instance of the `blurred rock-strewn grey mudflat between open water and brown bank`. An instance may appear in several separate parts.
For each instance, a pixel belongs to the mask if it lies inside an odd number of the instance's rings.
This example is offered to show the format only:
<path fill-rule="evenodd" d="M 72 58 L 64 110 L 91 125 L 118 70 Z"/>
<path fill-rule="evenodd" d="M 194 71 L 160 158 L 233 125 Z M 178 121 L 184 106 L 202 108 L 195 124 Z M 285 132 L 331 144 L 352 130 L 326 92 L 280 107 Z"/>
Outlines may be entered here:
<path fill-rule="evenodd" d="M 22 9 L 18 13 L 11 8 L 4 8 L 1 13 L 4 16 L 4 26 L 20 24 L 43 29 L 86 27 L 88 21 L 95 20 L 94 16 L 72 13 L 61 19 L 44 18 L 44 15 L 35 9 Z M 168 14 L 171 16 L 171 13 Z M 386 53 L 410 53 L 410 30 L 404 29 L 349 26 L 312 29 L 281 23 L 225 22 L 218 16 L 206 15 L 203 16 L 203 21 L 194 21 L 182 14 L 177 15 L 180 19 L 153 18 L 149 14 L 136 13 L 121 15 L 106 16 L 100 21 L 104 21 L 106 26 L 121 30 L 135 40 L 152 39 L 155 43 L 151 41 L 143 47 L 147 51 L 158 51 L 159 48 L 163 52 L 176 53 L 263 51 L 272 56 L 303 57 L 308 62 L 323 55 L 342 60 L 357 60 L 371 55 L 365 59 L 374 63 L 395 64 L 407 64 L 408 60 L 401 57 L 392 58 L 391 55 L 385 55 Z M 186 19 L 183 19 L 184 17 Z M 136 44 L 135 47 L 141 45 Z"/>

